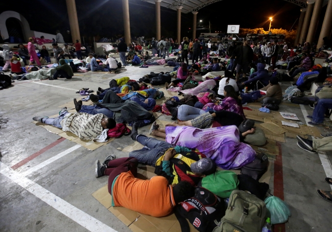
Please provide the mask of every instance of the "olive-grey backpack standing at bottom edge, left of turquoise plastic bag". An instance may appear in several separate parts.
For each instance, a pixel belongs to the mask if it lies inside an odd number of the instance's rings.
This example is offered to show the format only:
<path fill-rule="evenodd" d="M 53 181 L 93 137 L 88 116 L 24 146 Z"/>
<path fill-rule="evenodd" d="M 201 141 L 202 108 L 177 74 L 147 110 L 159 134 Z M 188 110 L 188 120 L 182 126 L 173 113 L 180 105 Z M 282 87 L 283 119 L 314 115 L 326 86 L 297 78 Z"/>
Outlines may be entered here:
<path fill-rule="evenodd" d="M 265 223 L 266 205 L 255 195 L 234 190 L 225 216 L 214 232 L 260 232 Z"/>

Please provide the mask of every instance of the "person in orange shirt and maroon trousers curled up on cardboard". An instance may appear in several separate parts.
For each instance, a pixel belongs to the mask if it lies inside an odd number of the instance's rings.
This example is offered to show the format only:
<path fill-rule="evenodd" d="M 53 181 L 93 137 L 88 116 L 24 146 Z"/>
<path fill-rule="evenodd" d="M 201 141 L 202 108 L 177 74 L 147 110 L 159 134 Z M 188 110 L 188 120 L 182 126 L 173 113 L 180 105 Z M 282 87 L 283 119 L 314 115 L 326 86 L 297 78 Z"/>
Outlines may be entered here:
<path fill-rule="evenodd" d="M 96 177 L 109 175 L 108 192 L 111 206 L 123 206 L 152 217 L 167 216 L 178 203 L 194 196 L 195 187 L 187 182 L 169 184 L 163 176 L 138 179 L 138 160 L 134 157 L 108 156 L 103 163 L 96 161 Z M 130 191 L 128 191 L 130 190 Z"/>

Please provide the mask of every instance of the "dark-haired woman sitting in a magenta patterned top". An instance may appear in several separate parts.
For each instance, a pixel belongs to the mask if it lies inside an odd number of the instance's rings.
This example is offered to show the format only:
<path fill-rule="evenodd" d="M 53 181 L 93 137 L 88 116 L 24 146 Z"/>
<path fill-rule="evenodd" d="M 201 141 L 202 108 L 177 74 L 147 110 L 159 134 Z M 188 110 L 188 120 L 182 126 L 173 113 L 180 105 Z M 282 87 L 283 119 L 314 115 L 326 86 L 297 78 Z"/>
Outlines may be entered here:
<path fill-rule="evenodd" d="M 205 110 L 205 111 L 227 110 L 227 111 L 231 111 L 234 113 L 238 113 L 243 117 L 243 119 L 246 119 L 244 112 L 243 112 L 241 100 L 239 99 L 238 94 L 236 94 L 233 86 L 226 85 L 224 87 L 224 96 L 225 96 L 225 98 L 221 102 L 219 102 L 219 104 L 218 103 L 207 103 L 203 107 L 203 110 Z"/>

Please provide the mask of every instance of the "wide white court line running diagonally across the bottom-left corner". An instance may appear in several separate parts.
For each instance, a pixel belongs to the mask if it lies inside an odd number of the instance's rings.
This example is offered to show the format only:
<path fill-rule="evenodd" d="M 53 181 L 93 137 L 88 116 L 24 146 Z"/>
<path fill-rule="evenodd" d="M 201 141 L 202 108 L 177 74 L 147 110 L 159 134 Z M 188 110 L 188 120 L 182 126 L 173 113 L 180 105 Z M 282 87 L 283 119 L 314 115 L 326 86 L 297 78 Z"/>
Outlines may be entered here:
<path fill-rule="evenodd" d="M 23 189 L 27 190 L 31 194 L 35 195 L 37 198 L 49 204 L 57 211 L 72 219 L 76 223 L 80 224 L 84 228 L 90 231 L 108 231 L 117 232 L 103 222 L 91 217 L 87 213 L 81 211 L 79 208 L 72 204 L 69 204 L 65 200 L 51 193 L 50 191 L 44 189 L 36 182 L 28 179 L 20 173 L 11 170 L 7 165 L 0 161 L 0 173 L 7 178 L 11 179 L 13 182 L 20 185 Z"/>

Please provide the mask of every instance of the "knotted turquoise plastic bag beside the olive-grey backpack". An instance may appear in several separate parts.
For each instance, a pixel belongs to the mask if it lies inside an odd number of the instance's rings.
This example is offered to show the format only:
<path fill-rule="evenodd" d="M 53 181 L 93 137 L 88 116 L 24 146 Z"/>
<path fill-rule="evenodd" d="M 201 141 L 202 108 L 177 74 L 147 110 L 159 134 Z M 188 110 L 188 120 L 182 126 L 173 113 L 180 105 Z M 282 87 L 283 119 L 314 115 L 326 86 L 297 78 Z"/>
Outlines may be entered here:
<path fill-rule="evenodd" d="M 291 211 L 288 205 L 280 198 L 270 196 L 265 199 L 266 207 L 271 212 L 271 224 L 280 224 L 288 221 Z"/>

